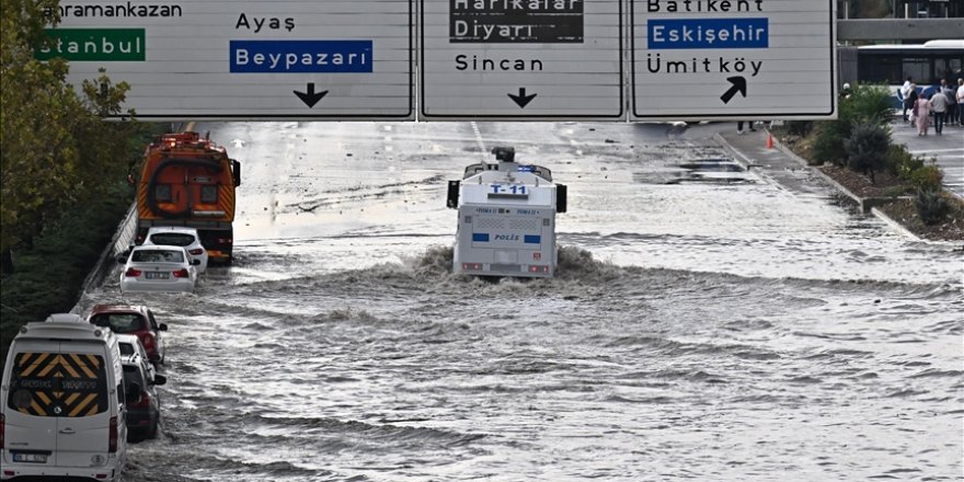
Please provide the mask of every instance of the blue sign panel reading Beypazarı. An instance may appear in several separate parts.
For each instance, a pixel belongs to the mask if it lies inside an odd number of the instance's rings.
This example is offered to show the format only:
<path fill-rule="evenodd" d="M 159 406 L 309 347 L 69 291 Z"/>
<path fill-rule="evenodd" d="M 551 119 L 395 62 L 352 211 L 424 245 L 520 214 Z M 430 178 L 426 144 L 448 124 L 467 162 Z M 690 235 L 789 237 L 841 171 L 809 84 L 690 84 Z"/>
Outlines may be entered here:
<path fill-rule="evenodd" d="M 371 41 L 231 41 L 231 72 L 371 72 Z"/>

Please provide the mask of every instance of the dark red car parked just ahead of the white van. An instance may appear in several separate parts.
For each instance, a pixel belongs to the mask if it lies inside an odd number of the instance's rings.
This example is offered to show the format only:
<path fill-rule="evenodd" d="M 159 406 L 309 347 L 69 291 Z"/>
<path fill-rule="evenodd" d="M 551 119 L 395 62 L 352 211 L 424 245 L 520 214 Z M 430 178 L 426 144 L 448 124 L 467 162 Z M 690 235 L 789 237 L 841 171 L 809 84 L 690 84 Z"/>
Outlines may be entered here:
<path fill-rule="evenodd" d="M 114 333 L 137 335 L 147 357 L 154 365 L 164 363 L 164 340 L 161 332 L 168 331 L 164 323 L 158 324 L 154 313 L 144 306 L 97 305 L 91 310 L 88 321 L 110 328 Z"/>

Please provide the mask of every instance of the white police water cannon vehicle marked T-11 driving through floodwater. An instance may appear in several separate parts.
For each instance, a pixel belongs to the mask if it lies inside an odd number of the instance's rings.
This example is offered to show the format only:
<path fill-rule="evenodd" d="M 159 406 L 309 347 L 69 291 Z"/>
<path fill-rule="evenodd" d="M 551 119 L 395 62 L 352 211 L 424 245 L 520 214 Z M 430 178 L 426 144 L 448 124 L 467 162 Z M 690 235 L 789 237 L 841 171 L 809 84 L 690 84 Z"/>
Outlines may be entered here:
<path fill-rule="evenodd" d="M 449 181 L 446 206 L 459 210 L 452 271 L 478 276 L 552 277 L 559 256 L 555 215 L 566 187 L 541 165 L 515 161 L 515 149 L 492 149 L 497 163 L 466 168 Z"/>

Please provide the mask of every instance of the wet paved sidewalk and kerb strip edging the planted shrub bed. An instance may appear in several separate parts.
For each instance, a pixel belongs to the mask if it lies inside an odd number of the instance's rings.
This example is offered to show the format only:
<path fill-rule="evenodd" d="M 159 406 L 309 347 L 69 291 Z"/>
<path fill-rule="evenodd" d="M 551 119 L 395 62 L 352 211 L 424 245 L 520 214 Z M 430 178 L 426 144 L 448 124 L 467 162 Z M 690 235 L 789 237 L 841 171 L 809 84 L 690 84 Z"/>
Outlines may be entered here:
<path fill-rule="evenodd" d="M 810 176 L 817 175 L 831 186 L 836 187 L 840 193 L 853 199 L 864 213 L 870 211 L 904 236 L 920 240 L 920 238 L 905 229 L 897 221 L 891 219 L 881 210 L 874 209 L 871 205 L 865 205 L 864 199 L 848 191 L 846 187 L 820 172 L 820 170 L 808 167 L 805 159 L 783 147 L 776 137 L 772 138 L 773 147 L 767 148 L 767 130 L 762 127 L 758 127 L 755 133 L 747 131 L 744 135 L 738 135 L 734 128 L 732 130 L 716 133 L 713 137 L 737 162 L 743 164 L 747 171 L 753 171 L 761 177 L 769 179 L 774 184 L 796 193 L 810 192 L 811 190 L 806 187 L 807 184 L 804 181 Z"/>

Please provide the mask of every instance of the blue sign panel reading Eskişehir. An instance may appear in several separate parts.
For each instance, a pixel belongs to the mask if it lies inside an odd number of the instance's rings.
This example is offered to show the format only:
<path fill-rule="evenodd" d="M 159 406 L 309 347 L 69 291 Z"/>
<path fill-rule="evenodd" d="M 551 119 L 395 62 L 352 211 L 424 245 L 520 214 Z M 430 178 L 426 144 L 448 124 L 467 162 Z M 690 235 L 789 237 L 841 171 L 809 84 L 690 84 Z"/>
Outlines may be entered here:
<path fill-rule="evenodd" d="M 649 48 L 767 48 L 768 19 L 650 20 Z"/>

